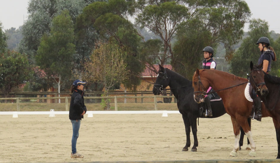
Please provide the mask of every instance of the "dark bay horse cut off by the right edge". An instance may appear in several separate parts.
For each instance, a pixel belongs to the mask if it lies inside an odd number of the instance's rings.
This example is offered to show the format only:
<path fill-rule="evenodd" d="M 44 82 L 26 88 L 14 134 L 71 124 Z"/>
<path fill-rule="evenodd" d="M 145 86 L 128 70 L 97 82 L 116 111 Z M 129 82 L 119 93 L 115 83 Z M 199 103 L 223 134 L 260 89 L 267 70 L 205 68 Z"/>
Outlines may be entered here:
<path fill-rule="evenodd" d="M 267 114 L 272 117 L 278 144 L 276 159 L 280 159 L 280 78 L 266 74 L 261 67 L 262 65 L 254 66 L 250 63 L 250 83 L 264 102 Z M 264 91 L 265 89 L 268 89 L 268 92 Z"/>

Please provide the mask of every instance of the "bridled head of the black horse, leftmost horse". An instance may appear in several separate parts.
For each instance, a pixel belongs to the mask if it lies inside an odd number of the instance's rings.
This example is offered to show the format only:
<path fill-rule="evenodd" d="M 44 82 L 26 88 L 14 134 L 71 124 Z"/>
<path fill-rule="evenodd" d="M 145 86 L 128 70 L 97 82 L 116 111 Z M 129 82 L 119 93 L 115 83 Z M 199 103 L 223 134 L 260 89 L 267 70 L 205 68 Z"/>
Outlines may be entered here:
<path fill-rule="evenodd" d="M 159 95 L 168 85 L 169 79 L 166 74 L 166 69 L 159 65 L 159 72 L 153 88 L 154 95 Z"/>

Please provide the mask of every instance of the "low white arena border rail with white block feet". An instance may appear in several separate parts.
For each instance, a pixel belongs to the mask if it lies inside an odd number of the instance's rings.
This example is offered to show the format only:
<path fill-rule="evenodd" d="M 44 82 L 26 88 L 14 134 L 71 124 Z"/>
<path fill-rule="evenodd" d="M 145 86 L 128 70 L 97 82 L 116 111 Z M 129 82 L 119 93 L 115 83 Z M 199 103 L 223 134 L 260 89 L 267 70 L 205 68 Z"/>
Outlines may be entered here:
<path fill-rule="evenodd" d="M 150 111 L 87 111 L 87 117 L 93 117 L 94 114 L 162 114 L 162 117 L 168 117 L 168 114 L 179 114 L 177 111 L 170 110 L 150 110 Z M 49 112 L 0 112 L 0 115 L 13 115 L 13 118 L 18 118 L 18 115 L 48 115 L 55 117 L 56 114 L 69 114 L 69 111 L 54 111 Z"/>

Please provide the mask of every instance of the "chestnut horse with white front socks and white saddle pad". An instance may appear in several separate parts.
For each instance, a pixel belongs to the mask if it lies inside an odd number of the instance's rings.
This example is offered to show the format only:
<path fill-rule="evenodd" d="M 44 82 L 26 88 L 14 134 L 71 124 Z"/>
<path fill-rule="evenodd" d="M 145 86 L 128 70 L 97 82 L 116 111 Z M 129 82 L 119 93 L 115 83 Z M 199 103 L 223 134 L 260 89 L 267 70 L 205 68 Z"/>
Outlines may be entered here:
<path fill-rule="evenodd" d="M 239 149 L 240 126 L 243 128 L 251 145 L 250 156 L 256 156 L 256 145 L 254 143 L 251 129 L 247 121 L 252 110 L 252 102 L 248 101 L 244 95 L 244 90 L 248 79 L 229 74 L 219 70 L 199 70 L 193 76 L 194 99 L 197 103 L 204 98 L 206 91 L 212 87 L 223 99 L 226 113 L 231 116 L 234 129 L 235 143 L 230 155 L 237 156 Z M 265 110 L 262 104 L 262 111 Z M 264 111 L 265 112 L 265 111 Z M 268 115 L 263 112 L 263 117 Z"/>

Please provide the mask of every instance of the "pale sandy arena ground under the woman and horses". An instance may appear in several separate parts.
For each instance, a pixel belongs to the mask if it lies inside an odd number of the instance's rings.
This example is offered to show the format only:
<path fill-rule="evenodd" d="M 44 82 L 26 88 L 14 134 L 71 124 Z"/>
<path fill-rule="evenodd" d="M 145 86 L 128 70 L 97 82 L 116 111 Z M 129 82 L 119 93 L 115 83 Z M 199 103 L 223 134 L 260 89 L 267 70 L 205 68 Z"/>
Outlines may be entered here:
<path fill-rule="evenodd" d="M 0 162 L 164 161 L 204 159 L 275 159 L 276 133 L 272 119 L 252 121 L 256 157 L 234 147 L 230 116 L 199 119 L 197 152 L 182 152 L 186 135 L 181 114 L 94 114 L 82 120 L 77 150 L 71 159 L 72 127 L 68 115 L 0 116 Z M 244 139 L 244 142 L 246 140 Z M 246 143 L 244 143 L 246 144 Z M 191 147 L 193 137 L 191 134 Z"/>

